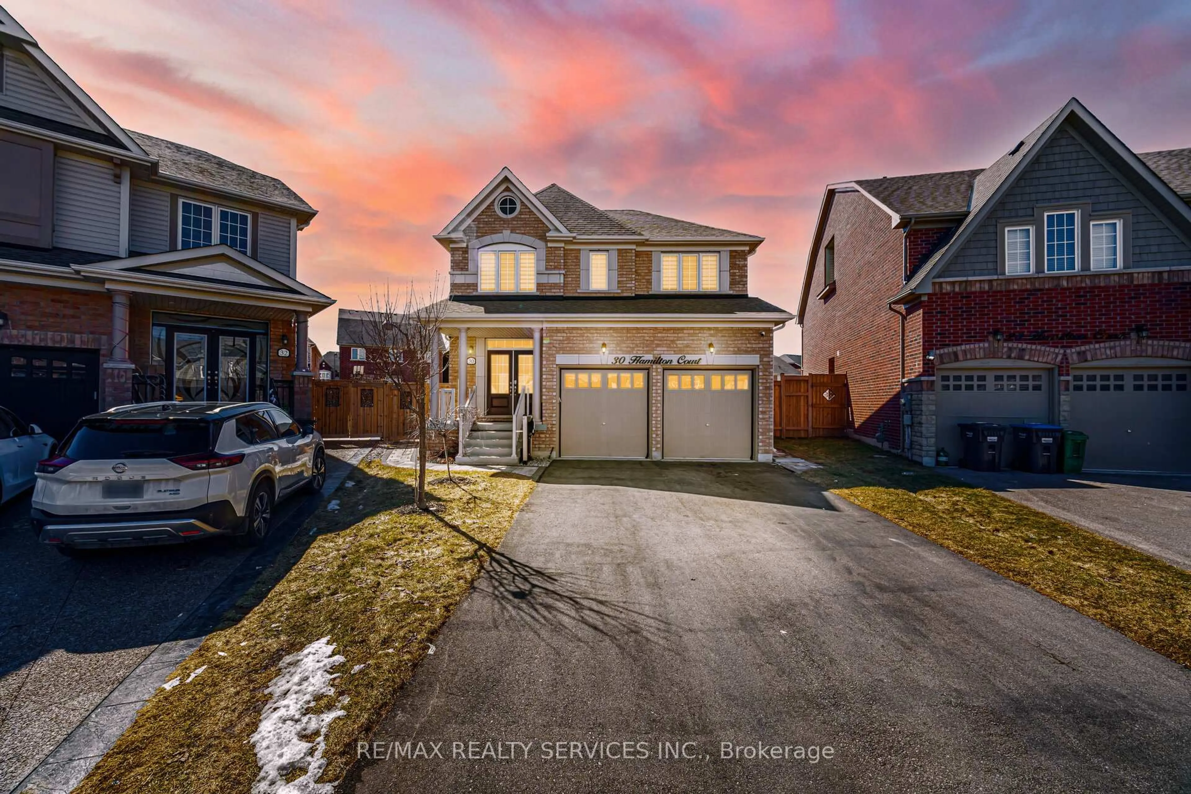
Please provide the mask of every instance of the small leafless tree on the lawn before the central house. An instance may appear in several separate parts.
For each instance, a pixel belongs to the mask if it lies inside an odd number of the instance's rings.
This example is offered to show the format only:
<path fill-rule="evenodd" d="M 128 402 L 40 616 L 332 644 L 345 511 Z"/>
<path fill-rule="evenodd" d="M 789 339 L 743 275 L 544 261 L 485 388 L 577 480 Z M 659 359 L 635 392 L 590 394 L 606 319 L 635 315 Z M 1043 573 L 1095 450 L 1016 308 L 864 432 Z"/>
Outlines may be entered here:
<path fill-rule="evenodd" d="M 363 337 L 368 362 L 386 381 L 410 393 L 410 413 L 414 419 L 418 442 L 418 479 L 414 504 L 426 509 L 426 457 L 430 420 L 428 399 L 431 377 L 442 345 L 442 319 L 447 301 L 441 296 L 436 277 L 423 294 L 413 285 L 394 294 L 386 283 L 384 290 L 373 287 L 364 301 Z"/>

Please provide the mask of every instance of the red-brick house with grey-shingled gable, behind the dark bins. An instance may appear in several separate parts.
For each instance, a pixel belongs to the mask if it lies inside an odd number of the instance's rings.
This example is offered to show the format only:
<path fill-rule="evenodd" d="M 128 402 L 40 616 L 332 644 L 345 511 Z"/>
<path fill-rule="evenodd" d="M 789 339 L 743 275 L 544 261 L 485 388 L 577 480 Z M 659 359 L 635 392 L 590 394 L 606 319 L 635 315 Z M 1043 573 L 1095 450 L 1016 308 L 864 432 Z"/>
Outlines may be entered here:
<path fill-rule="evenodd" d="M 928 465 L 960 421 L 1191 470 L 1191 149 L 1134 154 L 1072 99 L 984 170 L 829 185 L 798 308 L 854 431 Z"/>

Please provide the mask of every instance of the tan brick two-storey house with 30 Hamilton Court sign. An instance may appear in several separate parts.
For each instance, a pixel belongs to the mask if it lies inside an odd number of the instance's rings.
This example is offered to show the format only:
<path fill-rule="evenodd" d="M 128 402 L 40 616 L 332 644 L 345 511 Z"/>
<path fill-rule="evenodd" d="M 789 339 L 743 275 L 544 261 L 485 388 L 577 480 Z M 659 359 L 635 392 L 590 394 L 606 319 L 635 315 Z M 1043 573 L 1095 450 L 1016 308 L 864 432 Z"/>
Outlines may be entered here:
<path fill-rule="evenodd" d="M 435 237 L 450 344 L 432 388 L 493 420 L 464 459 L 509 455 L 518 405 L 536 456 L 772 458 L 773 331 L 793 317 L 748 295 L 762 238 L 532 193 L 507 168 Z"/>

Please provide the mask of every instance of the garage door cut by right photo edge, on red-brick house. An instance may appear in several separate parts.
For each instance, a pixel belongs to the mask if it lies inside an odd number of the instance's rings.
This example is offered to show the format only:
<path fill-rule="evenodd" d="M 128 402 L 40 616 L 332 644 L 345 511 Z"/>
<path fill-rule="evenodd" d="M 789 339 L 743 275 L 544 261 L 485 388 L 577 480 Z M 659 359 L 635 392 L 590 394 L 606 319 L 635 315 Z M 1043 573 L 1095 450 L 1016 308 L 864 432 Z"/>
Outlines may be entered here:
<path fill-rule="evenodd" d="M 1071 429 L 1084 468 L 1191 471 L 1191 368 L 1084 368 L 1071 375 Z"/>

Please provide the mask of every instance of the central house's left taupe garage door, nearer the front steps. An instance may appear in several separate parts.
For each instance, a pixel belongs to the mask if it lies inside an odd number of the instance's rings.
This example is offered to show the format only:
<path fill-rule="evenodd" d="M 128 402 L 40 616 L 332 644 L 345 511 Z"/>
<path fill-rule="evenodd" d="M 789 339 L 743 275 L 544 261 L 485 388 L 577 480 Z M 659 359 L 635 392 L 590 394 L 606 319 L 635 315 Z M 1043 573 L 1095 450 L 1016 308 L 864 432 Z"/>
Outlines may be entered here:
<path fill-rule="evenodd" d="M 649 377 L 643 370 L 561 373 L 559 455 L 643 458 L 649 455 Z"/>

